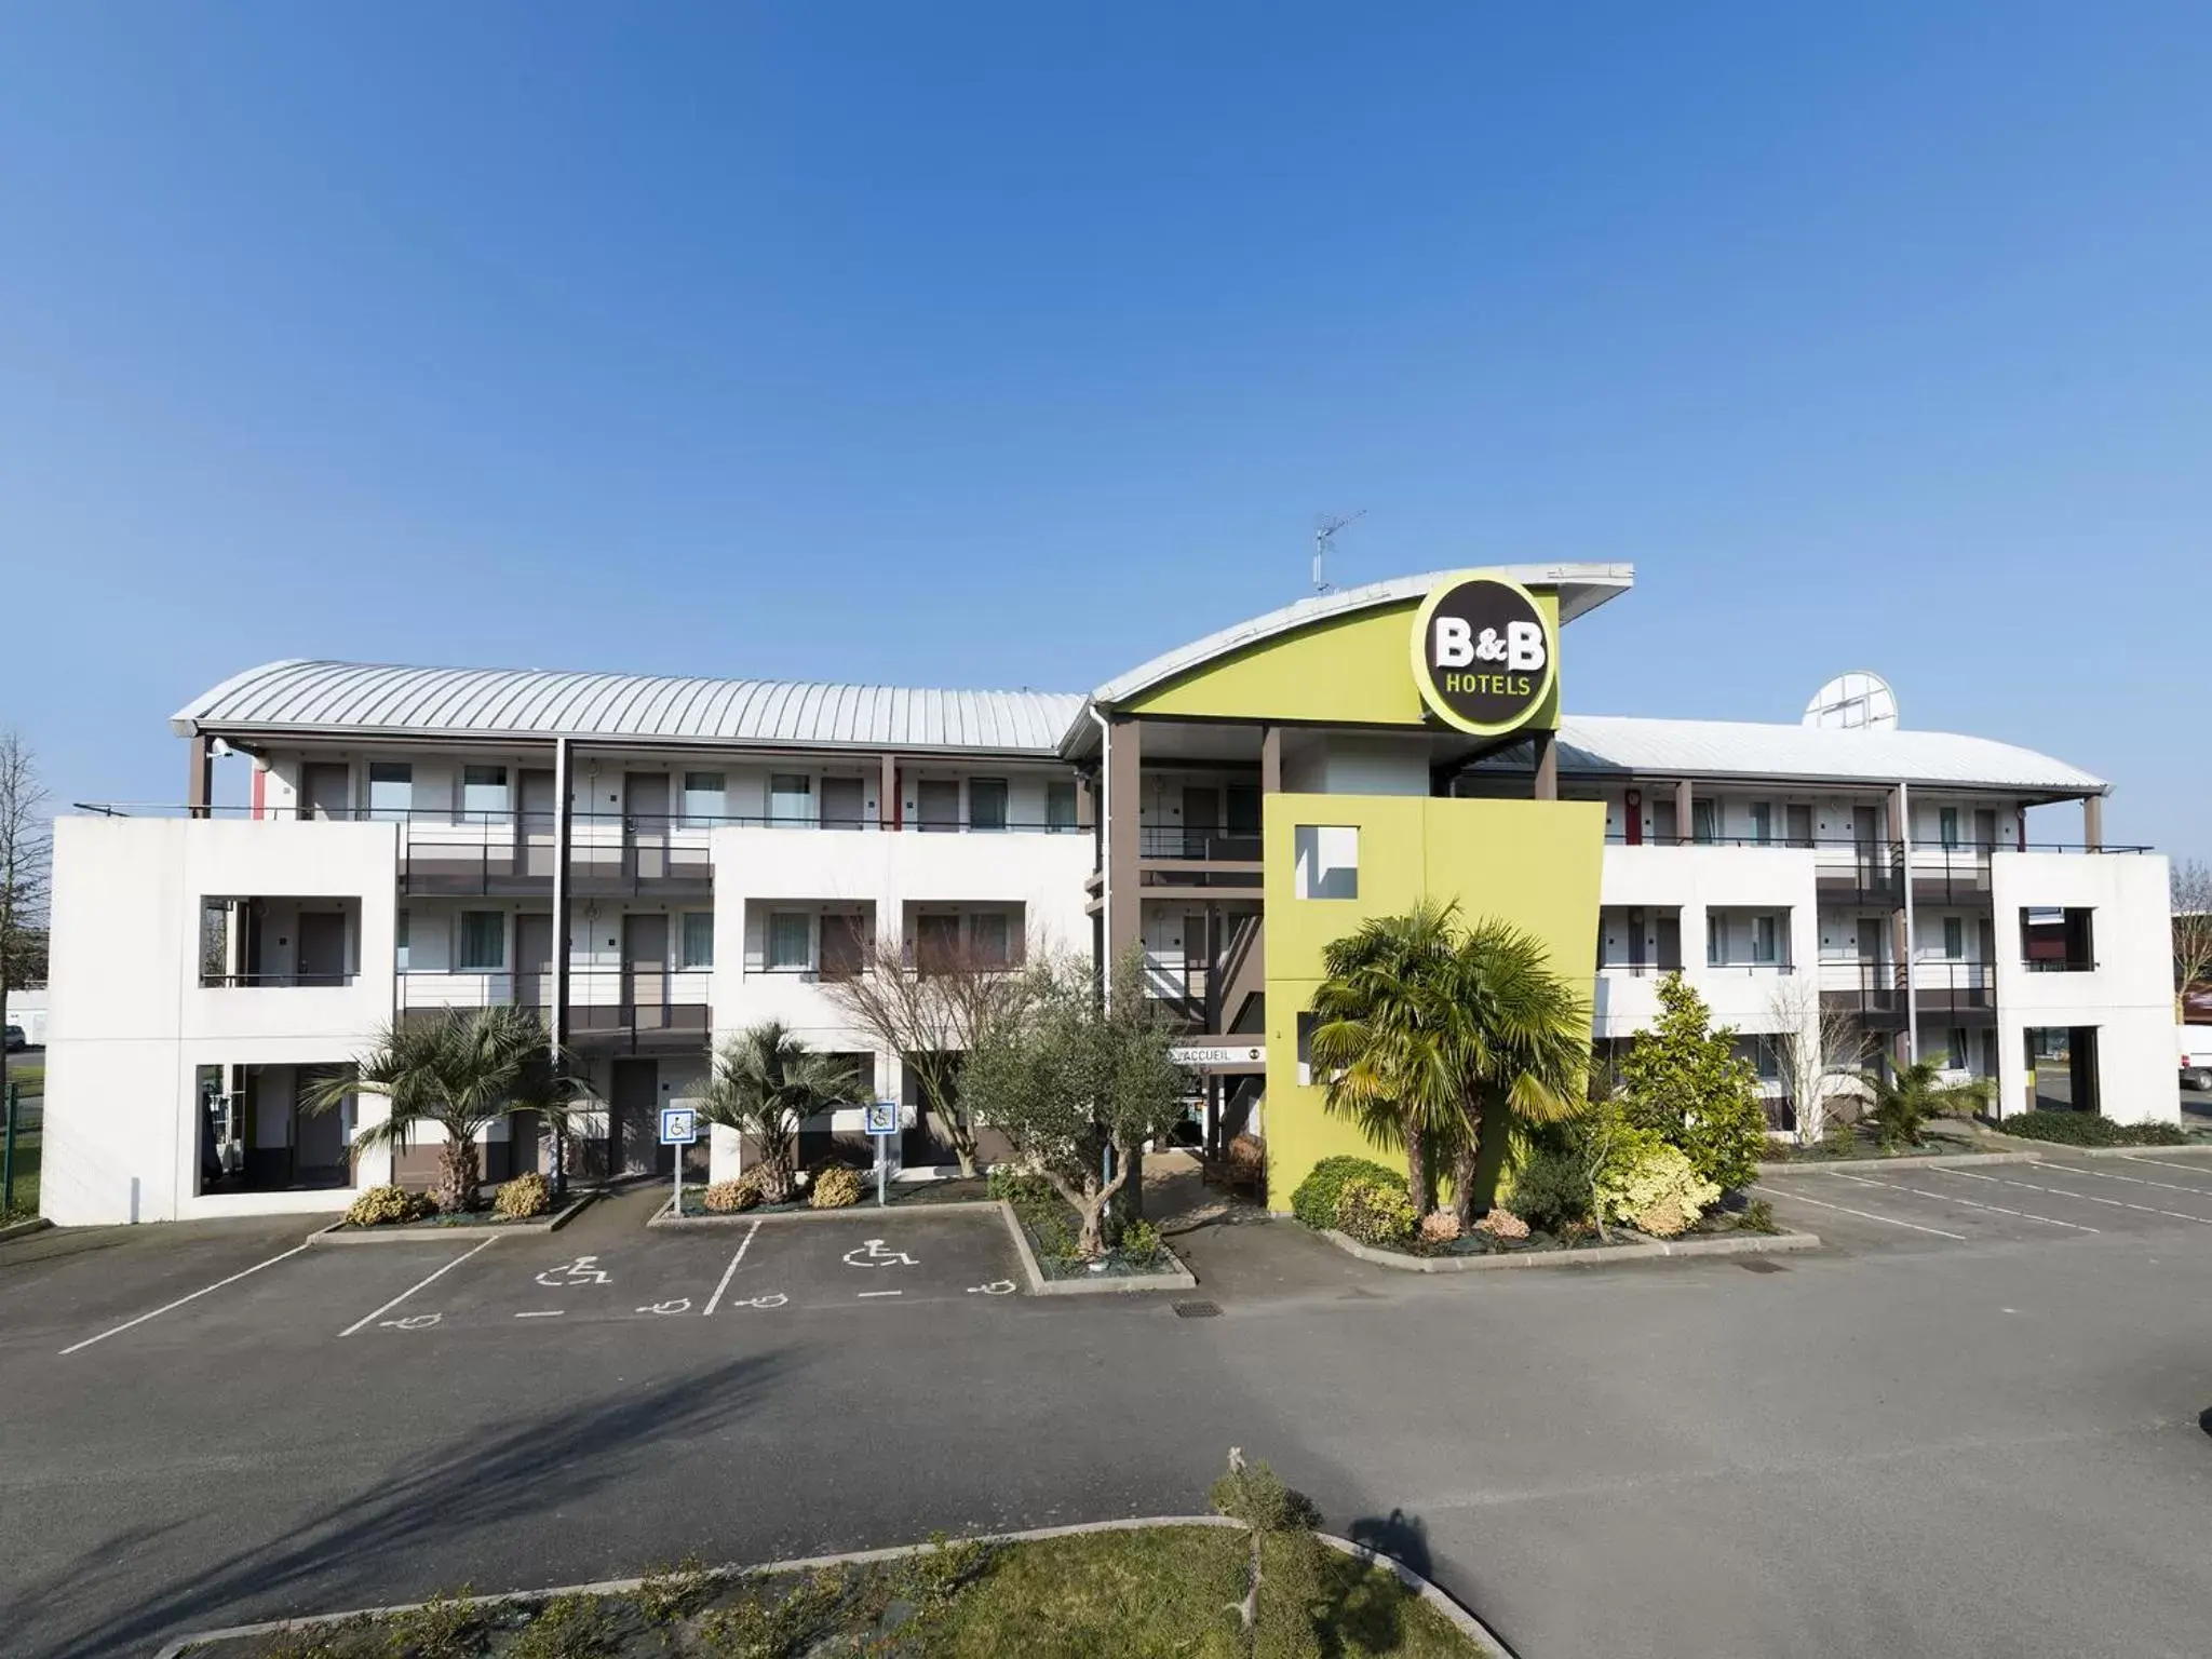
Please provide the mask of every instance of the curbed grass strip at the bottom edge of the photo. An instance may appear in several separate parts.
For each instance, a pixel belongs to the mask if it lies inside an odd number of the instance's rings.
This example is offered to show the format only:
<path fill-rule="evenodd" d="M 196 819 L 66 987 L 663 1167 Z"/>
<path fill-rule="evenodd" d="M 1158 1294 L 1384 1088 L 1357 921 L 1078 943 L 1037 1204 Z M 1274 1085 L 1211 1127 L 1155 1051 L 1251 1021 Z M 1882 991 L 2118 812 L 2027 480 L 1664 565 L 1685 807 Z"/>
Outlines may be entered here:
<path fill-rule="evenodd" d="M 633 1595 L 538 1604 L 440 1601 L 392 1619 L 195 1648 L 201 1659 L 646 1659 L 896 1655 L 898 1659 L 1480 1659 L 1484 1652 L 1383 1568 L 1303 1533 L 1265 1542 L 1245 1632 L 1250 1535 L 1228 1526 L 953 1544 L 810 1577 L 664 1571 Z"/>

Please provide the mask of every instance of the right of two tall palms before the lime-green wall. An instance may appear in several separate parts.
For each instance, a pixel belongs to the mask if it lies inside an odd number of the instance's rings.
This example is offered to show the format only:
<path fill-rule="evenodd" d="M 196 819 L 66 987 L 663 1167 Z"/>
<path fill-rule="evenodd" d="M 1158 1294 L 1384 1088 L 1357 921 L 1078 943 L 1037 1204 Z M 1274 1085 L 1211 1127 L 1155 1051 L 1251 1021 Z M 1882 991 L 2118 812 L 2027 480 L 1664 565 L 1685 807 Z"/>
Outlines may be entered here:
<path fill-rule="evenodd" d="M 1590 1004 L 1551 971 L 1551 953 L 1535 936 L 1482 920 L 1451 953 L 1440 1006 L 1467 1091 L 1467 1124 L 1451 1152 L 1451 1208 L 1469 1228 L 1484 1126 L 1502 1117 L 1557 1124 L 1588 1106 Z"/>

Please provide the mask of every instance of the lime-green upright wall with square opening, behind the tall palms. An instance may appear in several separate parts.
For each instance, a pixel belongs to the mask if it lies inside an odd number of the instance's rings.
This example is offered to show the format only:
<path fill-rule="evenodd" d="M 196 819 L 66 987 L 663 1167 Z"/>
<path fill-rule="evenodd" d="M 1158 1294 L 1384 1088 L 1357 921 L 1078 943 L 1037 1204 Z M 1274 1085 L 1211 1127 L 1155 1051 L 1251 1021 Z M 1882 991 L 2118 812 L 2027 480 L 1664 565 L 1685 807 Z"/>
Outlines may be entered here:
<path fill-rule="evenodd" d="M 1398 639 L 1405 681 L 1405 639 Z M 1352 825 L 1358 898 L 1296 896 L 1298 825 Z M 1597 887 L 1606 810 L 1597 801 L 1455 801 L 1380 794 L 1270 794 L 1263 801 L 1267 898 L 1267 1206 L 1325 1157 L 1354 1152 L 1402 1168 L 1349 1121 L 1323 1110 L 1323 1091 L 1298 1082 L 1298 1015 L 1321 982 L 1321 951 L 1369 916 L 1416 898 L 1458 898 L 1469 920 L 1498 916 L 1535 933 L 1553 964 L 1588 995 L 1597 962 Z M 1484 1183 L 1504 1137 L 1486 1137 Z"/>

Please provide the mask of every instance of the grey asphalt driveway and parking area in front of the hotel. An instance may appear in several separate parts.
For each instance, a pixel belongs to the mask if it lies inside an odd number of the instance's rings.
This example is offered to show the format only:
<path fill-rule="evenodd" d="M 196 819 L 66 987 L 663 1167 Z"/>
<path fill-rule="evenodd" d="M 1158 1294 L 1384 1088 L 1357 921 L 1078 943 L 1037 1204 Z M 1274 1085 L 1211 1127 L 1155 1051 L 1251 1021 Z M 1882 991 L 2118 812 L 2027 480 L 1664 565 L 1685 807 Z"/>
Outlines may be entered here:
<path fill-rule="evenodd" d="M 1752 1270 L 1219 1225 L 1199 1292 L 1126 1298 L 998 1292 L 991 1217 L 648 1232 L 659 1194 L 489 1245 L 38 1234 L 0 1646 L 1190 1511 L 1234 1444 L 1522 1659 L 2201 1655 L 2212 1159 L 2166 1164 L 1785 1170 L 1836 1248 Z"/>

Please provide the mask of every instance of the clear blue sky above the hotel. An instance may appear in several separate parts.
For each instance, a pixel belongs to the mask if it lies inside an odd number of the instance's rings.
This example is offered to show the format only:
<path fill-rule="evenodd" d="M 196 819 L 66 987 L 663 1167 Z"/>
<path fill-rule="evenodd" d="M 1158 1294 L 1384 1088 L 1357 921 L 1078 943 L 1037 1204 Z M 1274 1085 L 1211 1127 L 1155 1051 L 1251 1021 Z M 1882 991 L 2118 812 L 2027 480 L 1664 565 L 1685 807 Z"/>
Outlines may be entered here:
<path fill-rule="evenodd" d="M 1571 708 L 1905 719 L 2212 854 L 2203 4 L 42 4 L 0 721 L 270 657 L 1084 690 L 1632 560 Z M 2066 830 L 2064 823 L 2053 832 Z"/>

